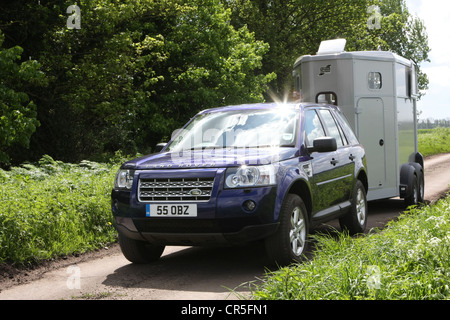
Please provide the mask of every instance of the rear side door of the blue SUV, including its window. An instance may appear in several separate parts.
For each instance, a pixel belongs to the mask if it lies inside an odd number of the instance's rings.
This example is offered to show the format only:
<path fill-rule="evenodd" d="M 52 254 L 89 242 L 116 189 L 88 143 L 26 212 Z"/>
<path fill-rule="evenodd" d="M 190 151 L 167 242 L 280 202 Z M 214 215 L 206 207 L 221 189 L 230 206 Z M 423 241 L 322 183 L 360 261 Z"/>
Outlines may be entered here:
<path fill-rule="evenodd" d="M 341 204 L 351 198 L 353 189 L 353 176 L 355 171 L 354 152 L 349 144 L 343 129 L 329 109 L 320 109 L 318 113 L 322 119 L 327 136 L 336 139 L 337 150 L 333 155 L 333 181 L 330 182 L 333 190 L 330 194 L 331 206 Z"/>

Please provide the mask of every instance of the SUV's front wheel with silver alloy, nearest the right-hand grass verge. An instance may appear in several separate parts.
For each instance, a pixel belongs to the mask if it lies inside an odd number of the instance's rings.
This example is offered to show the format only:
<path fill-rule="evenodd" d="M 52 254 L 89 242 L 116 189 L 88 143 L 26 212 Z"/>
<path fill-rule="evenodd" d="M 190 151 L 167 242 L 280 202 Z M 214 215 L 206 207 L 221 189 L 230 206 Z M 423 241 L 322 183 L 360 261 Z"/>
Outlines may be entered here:
<path fill-rule="evenodd" d="M 300 262 L 308 248 L 308 215 L 298 195 L 286 196 L 279 222 L 277 232 L 266 239 L 269 258 L 279 266 Z"/>

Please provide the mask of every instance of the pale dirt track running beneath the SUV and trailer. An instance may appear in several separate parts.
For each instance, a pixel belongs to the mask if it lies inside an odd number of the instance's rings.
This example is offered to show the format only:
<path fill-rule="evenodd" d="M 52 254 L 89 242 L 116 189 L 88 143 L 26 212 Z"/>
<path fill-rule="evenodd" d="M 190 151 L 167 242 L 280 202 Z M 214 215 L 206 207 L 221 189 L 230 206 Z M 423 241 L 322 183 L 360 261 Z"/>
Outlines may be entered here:
<path fill-rule="evenodd" d="M 450 154 L 428 158 L 425 179 L 425 199 L 432 202 L 442 197 L 449 190 Z M 402 208 L 400 199 L 370 203 L 368 229 L 383 227 Z M 242 283 L 264 275 L 264 256 L 262 245 L 168 247 L 157 263 L 133 265 L 113 245 L 34 270 L 0 269 L 0 300 L 237 299 L 236 294 L 248 293 Z"/>

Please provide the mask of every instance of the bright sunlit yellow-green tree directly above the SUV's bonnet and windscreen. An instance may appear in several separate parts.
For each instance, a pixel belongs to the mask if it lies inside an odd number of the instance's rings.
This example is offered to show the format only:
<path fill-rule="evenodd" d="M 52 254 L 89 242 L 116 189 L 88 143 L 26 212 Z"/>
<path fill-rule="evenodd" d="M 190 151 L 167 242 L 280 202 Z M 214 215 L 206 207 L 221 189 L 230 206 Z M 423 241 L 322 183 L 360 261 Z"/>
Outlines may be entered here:
<path fill-rule="evenodd" d="M 220 1 L 181 3 L 166 27 L 168 59 L 159 68 L 164 81 L 154 102 L 182 125 L 186 115 L 205 108 L 263 101 L 266 84 L 275 78 L 258 72 L 268 45 L 245 26 L 235 29 Z"/>

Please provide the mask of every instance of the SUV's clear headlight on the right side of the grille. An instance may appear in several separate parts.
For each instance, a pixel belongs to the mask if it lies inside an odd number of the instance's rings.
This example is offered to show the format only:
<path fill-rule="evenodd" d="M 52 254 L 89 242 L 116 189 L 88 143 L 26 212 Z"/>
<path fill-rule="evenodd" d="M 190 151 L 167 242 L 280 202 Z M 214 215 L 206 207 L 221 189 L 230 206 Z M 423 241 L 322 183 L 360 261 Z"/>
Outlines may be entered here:
<path fill-rule="evenodd" d="M 260 187 L 274 184 L 275 168 L 272 165 L 228 168 L 225 173 L 226 188 Z"/>

